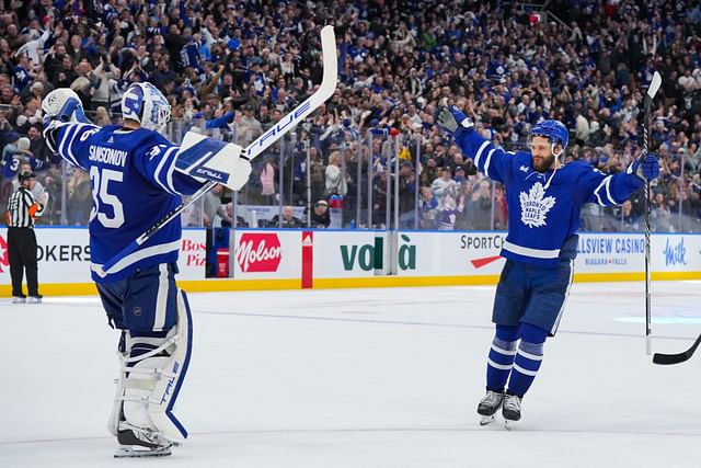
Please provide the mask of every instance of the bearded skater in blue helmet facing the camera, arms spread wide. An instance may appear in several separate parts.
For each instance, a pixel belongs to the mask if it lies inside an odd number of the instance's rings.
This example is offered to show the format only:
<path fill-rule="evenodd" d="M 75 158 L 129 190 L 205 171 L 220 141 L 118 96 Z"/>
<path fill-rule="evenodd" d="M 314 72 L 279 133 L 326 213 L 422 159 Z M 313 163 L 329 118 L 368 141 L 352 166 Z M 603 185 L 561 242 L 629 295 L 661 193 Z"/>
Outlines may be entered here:
<path fill-rule="evenodd" d="M 457 106 L 441 107 L 437 124 L 487 178 L 506 187 L 506 259 L 494 298 L 495 335 L 486 366 L 486 395 L 478 406 L 481 424 L 502 408 L 506 427 L 521 418 L 521 400 L 533 383 L 543 344 L 562 319 L 577 253 L 579 210 L 585 203 L 622 204 L 645 179 L 659 174 L 657 158 L 639 158 L 627 173 L 607 175 L 590 164 L 561 164 L 567 128 L 543 121 L 530 130 L 530 151 L 504 151 L 473 129 Z M 564 158 L 563 158 L 564 159 Z"/>

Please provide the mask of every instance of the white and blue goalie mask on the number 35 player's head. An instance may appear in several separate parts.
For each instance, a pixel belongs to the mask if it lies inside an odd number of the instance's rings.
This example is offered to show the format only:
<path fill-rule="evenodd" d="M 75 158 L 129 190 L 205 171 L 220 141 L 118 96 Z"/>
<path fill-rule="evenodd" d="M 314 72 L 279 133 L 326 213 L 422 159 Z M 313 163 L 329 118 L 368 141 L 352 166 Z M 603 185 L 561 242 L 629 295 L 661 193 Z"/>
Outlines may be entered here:
<path fill-rule="evenodd" d="M 141 124 L 141 127 L 163 132 L 171 119 L 171 105 L 151 83 L 133 83 L 122 96 L 122 118 Z"/>

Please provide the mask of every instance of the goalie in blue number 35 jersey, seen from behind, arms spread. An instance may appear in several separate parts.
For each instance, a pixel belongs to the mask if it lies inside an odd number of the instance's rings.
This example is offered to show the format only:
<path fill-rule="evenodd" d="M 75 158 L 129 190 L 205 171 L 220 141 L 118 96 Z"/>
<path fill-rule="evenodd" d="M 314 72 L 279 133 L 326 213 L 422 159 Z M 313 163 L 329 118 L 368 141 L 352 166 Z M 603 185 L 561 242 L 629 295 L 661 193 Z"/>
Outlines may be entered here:
<path fill-rule="evenodd" d="M 182 146 L 161 136 L 170 105 L 150 83 L 134 83 L 122 100 L 123 125 L 99 127 L 78 95 L 57 89 L 44 100 L 47 146 L 88 171 L 92 277 L 111 327 L 122 331 L 119 378 L 108 421 L 115 457 L 170 455 L 187 437 L 173 406 L 187 372 L 192 322 L 185 293 L 175 283 L 182 236 L 180 217 L 135 252 L 125 246 L 207 182 L 208 173 L 241 189 L 251 171 L 241 147 L 188 133 Z M 205 167 L 206 165 L 206 167 Z M 194 175 L 195 168 L 198 171 Z M 243 181 L 243 182 L 242 182 Z M 119 259 L 103 270 L 108 261 Z"/>

